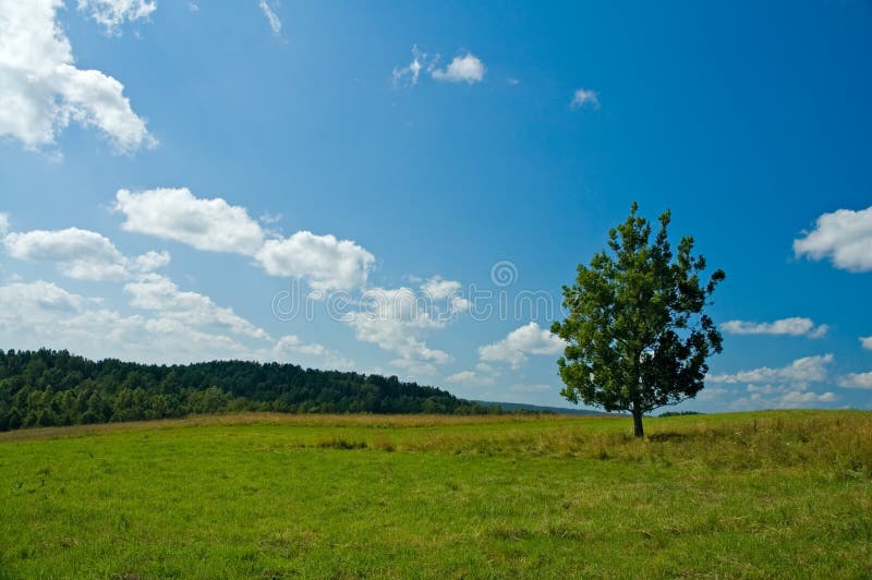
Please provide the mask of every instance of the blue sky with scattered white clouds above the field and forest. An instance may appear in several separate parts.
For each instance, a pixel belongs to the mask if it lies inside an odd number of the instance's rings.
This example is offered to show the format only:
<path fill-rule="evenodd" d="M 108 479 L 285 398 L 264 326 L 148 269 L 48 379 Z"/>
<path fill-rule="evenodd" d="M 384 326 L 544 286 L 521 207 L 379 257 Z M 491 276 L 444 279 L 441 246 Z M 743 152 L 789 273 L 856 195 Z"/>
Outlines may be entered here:
<path fill-rule="evenodd" d="M 704 4 L 0 0 L 0 348 L 561 404 L 638 201 L 727 271 L 683 408 L 870 408 L 872 5 Z"/>

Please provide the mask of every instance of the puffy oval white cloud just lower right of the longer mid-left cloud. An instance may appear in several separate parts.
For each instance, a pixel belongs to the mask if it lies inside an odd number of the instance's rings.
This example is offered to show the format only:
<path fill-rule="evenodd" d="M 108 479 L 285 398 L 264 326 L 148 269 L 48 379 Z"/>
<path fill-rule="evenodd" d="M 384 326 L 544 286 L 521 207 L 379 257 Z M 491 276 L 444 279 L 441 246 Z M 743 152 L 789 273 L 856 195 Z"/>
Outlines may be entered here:
<path fill-rule="evenodd" d="M 373 254 L 351 240 L 308 231 L 267 240 L 255 257 L 267 274 L 303 278 L 316 290 L 362 287 L 375 263 Z"/>

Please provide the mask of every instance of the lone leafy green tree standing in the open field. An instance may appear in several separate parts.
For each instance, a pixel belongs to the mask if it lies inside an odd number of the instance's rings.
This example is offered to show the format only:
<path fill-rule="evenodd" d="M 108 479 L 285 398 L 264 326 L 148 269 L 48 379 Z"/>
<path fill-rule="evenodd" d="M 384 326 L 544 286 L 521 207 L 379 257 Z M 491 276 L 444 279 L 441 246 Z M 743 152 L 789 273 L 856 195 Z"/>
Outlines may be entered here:
<path fill-rule="evenodd" d="M 718 269 L 700 281 L 705 258 L 693 256 L 693 238 L 682 238 L 673 254 L 667 238 L 670 214 L 650 243 L 651 225 L 637 216 L 608 232 L 608 247 L 579 264 L 572 287 L 564 287 L 569 315 L 552 331 L 567 341 L 558 361 L 566 399 L 630 411 L 637 437 L 642 415 L 695 397 L 708 371 L 705 359 L 720 352 L 722 337 L 703 307 L 726 275 Z"/>

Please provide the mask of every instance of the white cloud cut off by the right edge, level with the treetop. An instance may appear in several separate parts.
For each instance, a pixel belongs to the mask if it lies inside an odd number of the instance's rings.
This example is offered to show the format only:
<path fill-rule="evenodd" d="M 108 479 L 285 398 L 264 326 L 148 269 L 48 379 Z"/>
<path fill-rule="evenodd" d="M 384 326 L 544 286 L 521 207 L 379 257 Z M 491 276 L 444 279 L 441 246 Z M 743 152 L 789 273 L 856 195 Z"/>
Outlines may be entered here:
<path fill-rule="evenodd" d="M 837 268 L 872 270 L 872 207 L 853 212 L 838 209 L 818 218 L 814 230 L 794 240 L 797 257 L 828 257 Z"/>

